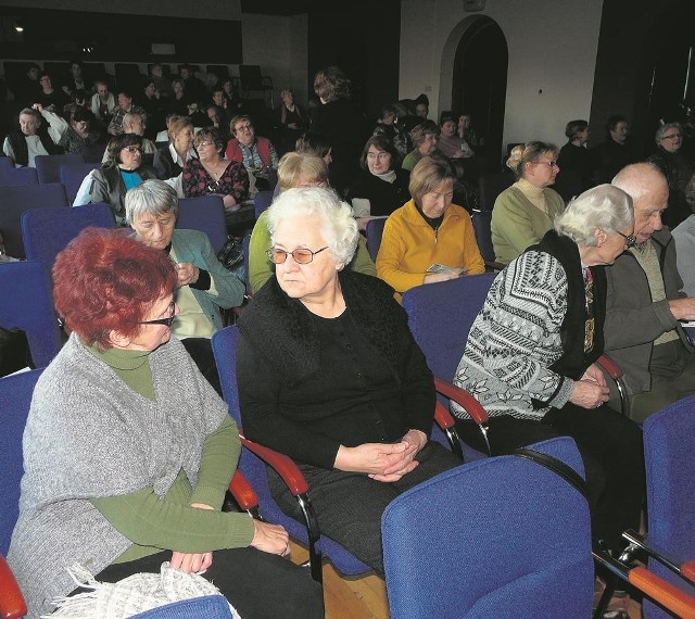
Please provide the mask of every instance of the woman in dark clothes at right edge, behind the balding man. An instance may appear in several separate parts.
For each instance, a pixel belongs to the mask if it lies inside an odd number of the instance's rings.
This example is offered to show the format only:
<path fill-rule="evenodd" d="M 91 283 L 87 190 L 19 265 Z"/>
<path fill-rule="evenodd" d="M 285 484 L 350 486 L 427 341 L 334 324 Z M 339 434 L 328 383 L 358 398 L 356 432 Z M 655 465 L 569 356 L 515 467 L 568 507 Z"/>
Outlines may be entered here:
<path fill-rule="evenodd" d="M 680 123 L 661 125 L 656 130 L 655 140 L 657 150 L 647 161 L 658 166 L 669 184 L 669 207 L 664 213 L 664 223 L 673 229 L 691 214 L 685 201 L 685 186 L 695 167 L 681 152 L 683 126 Z"/>

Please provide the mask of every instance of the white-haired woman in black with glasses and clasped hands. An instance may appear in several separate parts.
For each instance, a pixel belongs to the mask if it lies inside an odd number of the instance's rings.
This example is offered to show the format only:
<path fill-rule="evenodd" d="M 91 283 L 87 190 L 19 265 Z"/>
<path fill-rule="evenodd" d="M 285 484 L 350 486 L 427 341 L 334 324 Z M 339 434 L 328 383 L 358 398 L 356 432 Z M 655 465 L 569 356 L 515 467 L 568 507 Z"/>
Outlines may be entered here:
<path fill-rule="evenodd" d="M 268 227 L 276 271 L 238 323 L 244 434 L 298 460 L 321 532 L 383 573 L 386 506 L 460 464 L 428 440 L 432 374 L 393 290 L 343 268 L 359 237 L 346 203 L 327 189 L 289 189 Z M 302 519 L 273 475 L 270 490 Z"/>

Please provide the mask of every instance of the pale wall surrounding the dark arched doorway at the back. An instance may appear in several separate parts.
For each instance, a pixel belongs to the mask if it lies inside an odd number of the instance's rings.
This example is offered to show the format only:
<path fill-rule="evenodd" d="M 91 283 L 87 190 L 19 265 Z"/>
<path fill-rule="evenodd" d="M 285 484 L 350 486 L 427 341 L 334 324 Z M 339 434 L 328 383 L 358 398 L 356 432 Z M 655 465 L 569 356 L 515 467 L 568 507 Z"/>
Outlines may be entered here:
<path fill-rule="evenodd" d="M 463 0 L 402 0 L 399 98 L 425 92 L 438 117 L 447 38 L 466 17 L 486 15 L 509 50 L 503 143 L 563 144 L 568 121 L 589 119 L 602 9 L 603 0 L 488 0 L 484 11 L 466 13 Z"/>

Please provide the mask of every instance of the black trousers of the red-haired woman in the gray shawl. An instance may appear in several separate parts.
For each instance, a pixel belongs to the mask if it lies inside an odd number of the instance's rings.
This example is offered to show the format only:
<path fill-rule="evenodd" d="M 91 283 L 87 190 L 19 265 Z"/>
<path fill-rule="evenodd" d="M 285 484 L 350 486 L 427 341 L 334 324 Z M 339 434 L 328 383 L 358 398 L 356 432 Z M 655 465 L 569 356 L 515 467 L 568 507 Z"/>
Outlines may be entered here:
<path fill-rule="evenodd" d="M 101 582 L 117 582 L 138 572 L 156 572 L 170 551 L 124 564 L 113 564 L 97 574 Z M 219 589 L 244 619 L 324 617 L 320 585 L 308 570 L 289 559 L 255 548 L 215 551 L 213 565 L 202 574 Z"/>

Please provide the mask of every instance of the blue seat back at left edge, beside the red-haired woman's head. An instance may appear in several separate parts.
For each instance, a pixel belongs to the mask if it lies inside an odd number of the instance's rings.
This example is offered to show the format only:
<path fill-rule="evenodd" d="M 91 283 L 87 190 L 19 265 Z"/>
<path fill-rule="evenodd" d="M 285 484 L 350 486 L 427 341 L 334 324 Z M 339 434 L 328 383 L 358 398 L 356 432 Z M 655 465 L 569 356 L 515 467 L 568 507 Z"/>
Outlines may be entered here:
<path fill-rule="evenodd" d="M 51 278 L 40 262 L 0 264 L 0 326 L 26 332 L 36 367 L 45 367 L 61 349 Z"/>

